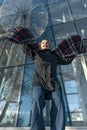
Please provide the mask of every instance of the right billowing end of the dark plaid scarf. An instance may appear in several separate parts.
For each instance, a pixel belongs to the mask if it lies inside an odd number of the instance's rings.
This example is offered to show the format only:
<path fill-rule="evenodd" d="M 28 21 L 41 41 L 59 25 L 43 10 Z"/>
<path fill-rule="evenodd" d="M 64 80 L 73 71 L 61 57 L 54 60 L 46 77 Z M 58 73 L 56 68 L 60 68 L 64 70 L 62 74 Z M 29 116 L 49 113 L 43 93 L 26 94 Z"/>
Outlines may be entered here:
<path fill-rule="evenodd" d="M 79 35 L 72 35 L 60 42 L 55 51 L 57 55 L 67 58 L 87 53 L 87 39 L 81 39 Z"/>

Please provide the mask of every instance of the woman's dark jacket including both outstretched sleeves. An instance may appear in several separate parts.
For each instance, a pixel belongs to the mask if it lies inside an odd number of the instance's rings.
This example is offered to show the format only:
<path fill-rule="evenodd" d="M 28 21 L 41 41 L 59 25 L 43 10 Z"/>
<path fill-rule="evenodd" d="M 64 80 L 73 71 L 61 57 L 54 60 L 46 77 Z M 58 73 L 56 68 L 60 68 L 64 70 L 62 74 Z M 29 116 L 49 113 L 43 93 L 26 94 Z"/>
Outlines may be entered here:
<path fill-rule="evenodd" d="M 28 54 L 35 62 L 33 87 L 41 86 L 47 91 L 60 89 L 60 83 L 57 78 L 57 66 L 70 64 L 74 57 L 65 60 L 56 55 L 55 51 L 48 49 L 38 51 L 29 49 L 24 52 Z"/>

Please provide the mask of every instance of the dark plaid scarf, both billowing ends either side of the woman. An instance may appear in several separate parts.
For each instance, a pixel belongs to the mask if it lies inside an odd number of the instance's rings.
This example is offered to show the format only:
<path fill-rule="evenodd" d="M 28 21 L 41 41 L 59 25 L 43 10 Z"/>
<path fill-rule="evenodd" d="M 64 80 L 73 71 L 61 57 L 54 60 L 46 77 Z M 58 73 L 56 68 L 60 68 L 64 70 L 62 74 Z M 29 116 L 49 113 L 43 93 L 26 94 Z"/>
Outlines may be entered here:
<path fill-rule="evenodd" d="M 0 38 L 0 40 L 5 39 L 15 42 L 16 44 L 32 45 L 34 50 L 38 48 L 34 36 L 28 28 L 13 27 Z M 72 35 L 71 37 L 61 41 L 55 49 L 55 52 L 63 58 L 87 53 L 87 39 L 81 39 L 79 35 Z"/>

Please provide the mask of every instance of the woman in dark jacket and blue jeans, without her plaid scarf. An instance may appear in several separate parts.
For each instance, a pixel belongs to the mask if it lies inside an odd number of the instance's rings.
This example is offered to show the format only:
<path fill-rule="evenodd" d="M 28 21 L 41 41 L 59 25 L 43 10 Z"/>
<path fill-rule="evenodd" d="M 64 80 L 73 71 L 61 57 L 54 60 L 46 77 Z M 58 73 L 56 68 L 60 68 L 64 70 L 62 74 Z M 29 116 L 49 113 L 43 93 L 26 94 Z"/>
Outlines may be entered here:
<path fill-rule="evenodd" d="M 67 60 L 59 57 L 51 51 L 47 40 L 43 40 L 37 50 L 25 45 L 23 51 L 35 62 L 31 130 L 45 130 L 45 99 L 51 100 L 51 130 L 65 130 L 65 108 L 56 69 L 58 65 L 70 64 L 74 57 Z"/>

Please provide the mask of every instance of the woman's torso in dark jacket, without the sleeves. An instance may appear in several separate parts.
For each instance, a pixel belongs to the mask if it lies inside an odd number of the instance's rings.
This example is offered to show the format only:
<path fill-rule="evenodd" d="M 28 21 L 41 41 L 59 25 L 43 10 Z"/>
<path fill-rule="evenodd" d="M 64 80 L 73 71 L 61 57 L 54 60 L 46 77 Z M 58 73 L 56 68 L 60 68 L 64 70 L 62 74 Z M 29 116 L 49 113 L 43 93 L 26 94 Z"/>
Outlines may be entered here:
<path fill-rule="evenodd" d="M 41 86 L 49 91 L 59 89 L 57 79 L 58 58 L 50 50 L 38 51 L 35 56 L 33 86 Z"/>

